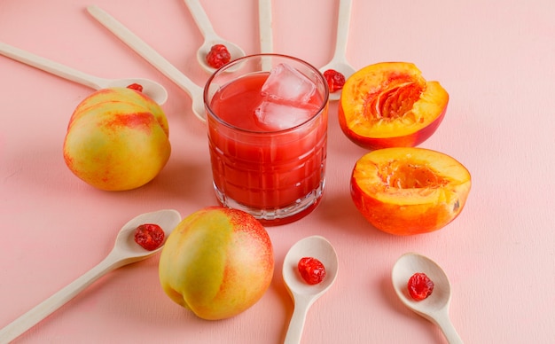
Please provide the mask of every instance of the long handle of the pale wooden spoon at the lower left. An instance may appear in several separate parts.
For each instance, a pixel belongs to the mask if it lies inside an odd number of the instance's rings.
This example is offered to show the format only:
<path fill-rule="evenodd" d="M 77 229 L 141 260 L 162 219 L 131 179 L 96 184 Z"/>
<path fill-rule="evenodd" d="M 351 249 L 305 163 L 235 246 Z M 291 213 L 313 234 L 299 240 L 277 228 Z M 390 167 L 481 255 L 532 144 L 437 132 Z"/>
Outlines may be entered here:
<path fill-rule="evenodd" d="M 51 297 L 36 305 L 35 308 L 30 309 L 27 313 L 0 330 L 0 343 L 9 343 L 16 339 L 43 320 L 43 318 L 48 317 L 56 309 L 66 304 L 67 301 L 73 299 L 75 295 L 81 293 L 86 287 L 98 280 L 98 278 L 126 263 L 117 252 L 112 251 L 106 256 L 104 261 L 98 263 L 97 266 L 83 274 L 80 278 L 75 279 L 74 282 L 66 285 L 59 292 L 54 293 Z"/>

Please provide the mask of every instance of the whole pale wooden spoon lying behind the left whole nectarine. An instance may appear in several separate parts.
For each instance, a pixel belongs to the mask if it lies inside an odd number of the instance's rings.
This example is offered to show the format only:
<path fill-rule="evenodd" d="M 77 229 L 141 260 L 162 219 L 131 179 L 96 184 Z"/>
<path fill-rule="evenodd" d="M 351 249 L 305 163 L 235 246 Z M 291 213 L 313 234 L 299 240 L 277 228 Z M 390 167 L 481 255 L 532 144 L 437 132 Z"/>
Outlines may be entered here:
<path fill-rule="evenodd" d="M 106 89 L 109 87 L 128 87 L 133 83 L 143 86 L 143 92 L 156 103 L 162 105 L 168 100 L 168 92 L 158 82 L 142 78 L 125 78 L 125 79 L 103 79 L 90 74 L 82 73 L 74 68 L 64 66 L 50 59 L 45 59 L 33 53 L 22 51 L 12 45 L 0 43 L 0 54 L 20 61 L 26 65 L 34 66 L 45 72 L 58 75 L 72 82 L 81 83 L 94 90 Z"/>

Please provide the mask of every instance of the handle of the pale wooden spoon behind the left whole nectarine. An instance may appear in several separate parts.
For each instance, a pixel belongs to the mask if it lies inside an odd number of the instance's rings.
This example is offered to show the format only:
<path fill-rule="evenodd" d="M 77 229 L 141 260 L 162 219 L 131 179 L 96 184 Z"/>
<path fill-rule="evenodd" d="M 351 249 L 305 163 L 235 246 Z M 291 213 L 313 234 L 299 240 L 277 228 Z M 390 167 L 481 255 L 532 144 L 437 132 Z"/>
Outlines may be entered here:
<path fill-rule="evenodd" d="M 10 59 L 15 59 L 28 66 L 34 66 L 35 68 L 42 69 L 45 72 L 58 75 L 64 79 L 70 80 L 72 82 L 81 83 L 82 85 L 88 86 L 91 89 L 100 90 L 106 88 L 108 80 L 98 78 L 96 76 L 82 73 L 74 68 L 64 66 L 58 62 L 54 62 L 50 59 L 45 59 L 37 56 L 28 51 L 22 51 L 12 45 L 0 42 L 0 53 Z"/>

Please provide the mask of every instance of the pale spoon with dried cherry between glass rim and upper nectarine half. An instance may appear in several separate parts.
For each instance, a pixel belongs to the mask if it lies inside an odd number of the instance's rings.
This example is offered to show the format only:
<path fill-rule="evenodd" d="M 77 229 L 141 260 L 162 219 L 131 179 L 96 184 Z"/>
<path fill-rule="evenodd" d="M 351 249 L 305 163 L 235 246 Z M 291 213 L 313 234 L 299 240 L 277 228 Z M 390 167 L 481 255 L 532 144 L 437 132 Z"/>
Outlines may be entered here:
<path fill-rule="evenodd" d="M 351 21 L 351 8 L 353 7 L 352 0 L 340 0 L 340 11 L 337 20 L 337 37 L 335 40 L 335 52 L 333 54 L 332 60 L 325 66 L 320 68 L 320 72 L 324 72 L 328 69 L 333 69 L 348 79 L 356 69 L 348 64 L 347 61 L 347 40 L 348 40 L 348 27 Z M 341 96 L 341 90 L 335 92 L 330 92 L 330 100 L 339 100 Z"/>

